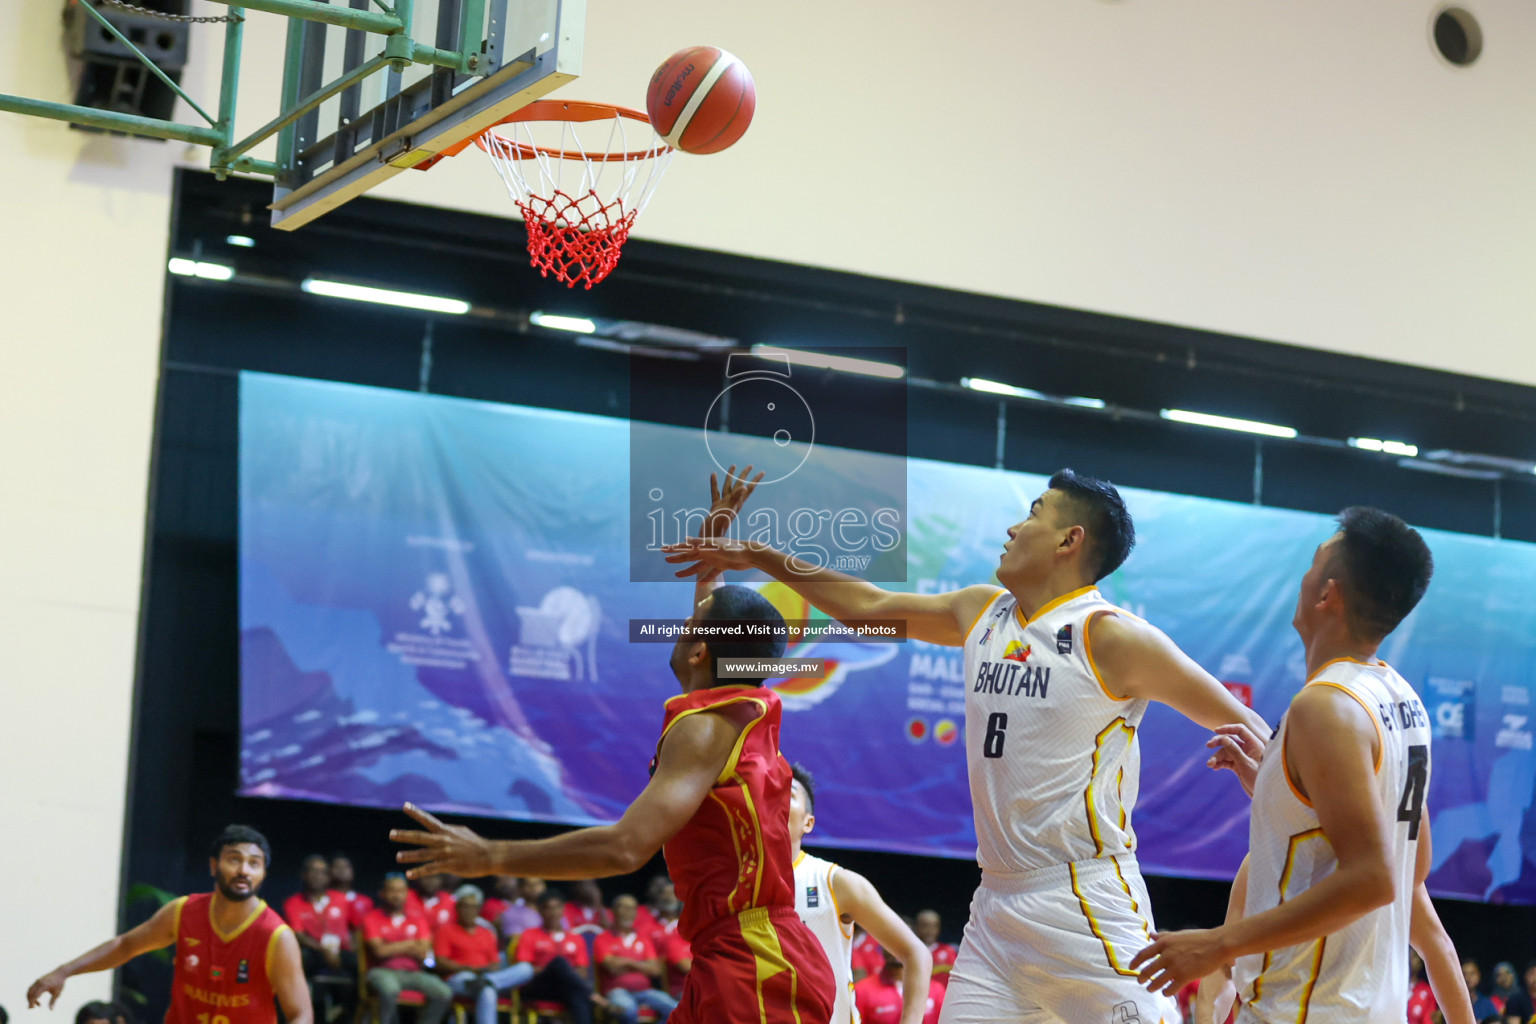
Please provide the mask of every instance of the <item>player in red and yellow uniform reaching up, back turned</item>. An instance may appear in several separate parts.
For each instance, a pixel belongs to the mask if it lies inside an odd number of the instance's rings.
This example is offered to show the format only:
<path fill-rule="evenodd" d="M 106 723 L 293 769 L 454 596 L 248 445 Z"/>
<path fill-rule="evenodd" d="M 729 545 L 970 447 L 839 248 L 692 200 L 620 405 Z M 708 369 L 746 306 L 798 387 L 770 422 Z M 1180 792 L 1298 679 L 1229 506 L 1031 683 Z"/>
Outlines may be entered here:
<path fill-rule="evenodd" d="M 705 531 L 723 528 L 751 493 L 734 468 L 723 491 L 711 477 Z M 768 625 L 770 636 L 722 639 L 731 629 L 740 636 L 742 623 Z M 703 593 L 673 646 L 684 692 L 667 702 L 651 781 L 616 823 L 490 841 L 406 804 L 427 831 L 390 832 L 396 843 L 421 847 L 402 851 L 399 861 L 415 864 L 413 877 L 449 870 L 574 880 L 639 870 L 665 846 L 684 903 L 677 932 L 693 946 L 693 970 L 670 1022 L 828 1024 L 831 967 L 794 910 L 793 777 L 779 754 L 779 695 L 762 679 L 722 680 L 716 669 L 722 657 L 780 657 L 783 634 L 783 619 L 756 591 Z"/>

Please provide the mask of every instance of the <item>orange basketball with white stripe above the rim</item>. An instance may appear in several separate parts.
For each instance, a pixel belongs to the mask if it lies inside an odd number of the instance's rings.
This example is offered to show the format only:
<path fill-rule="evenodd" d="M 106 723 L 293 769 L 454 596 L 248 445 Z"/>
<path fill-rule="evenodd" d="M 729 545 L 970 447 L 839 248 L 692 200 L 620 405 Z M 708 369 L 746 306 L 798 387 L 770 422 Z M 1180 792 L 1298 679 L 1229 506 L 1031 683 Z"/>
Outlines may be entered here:
<path fill-rule="evenodd" d="M 645 112 L 668 146 L 717 154 L 753 123 L 757 89 L 746 64 L 719 46 L 680 49 L 656 69 Z"/>

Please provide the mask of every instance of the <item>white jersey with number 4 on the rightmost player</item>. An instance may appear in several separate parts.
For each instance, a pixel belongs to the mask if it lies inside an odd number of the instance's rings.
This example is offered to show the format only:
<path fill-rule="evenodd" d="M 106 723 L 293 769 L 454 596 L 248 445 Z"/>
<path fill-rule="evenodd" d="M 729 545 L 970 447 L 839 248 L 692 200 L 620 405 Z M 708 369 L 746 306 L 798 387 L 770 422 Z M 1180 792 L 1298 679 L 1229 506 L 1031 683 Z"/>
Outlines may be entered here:
<path fill-rule="evenodd" d="M 1401 1024 L 1409 990 L 1409 920 L 1419 815 L 1430 785 L 1430 720 L 1418 694 L 1390 666 L 1336 659 L 1307 686 L 1333 686 L 1361 703 L 1376 726 L 1376 792 L 1393 826 L 1387 855 L 1396 897 L 1353 924 L 1312 943 L 1238 960 L 1235 981 L 1246 1021 Z M 1247 913 L 1318 884 L 1338 867 L 1312 803 L 1286 768 L 1286 720 L 1253 785 L 1249 821 Z M 1276 755 L 1278 754 L 1278 755 Z"/>

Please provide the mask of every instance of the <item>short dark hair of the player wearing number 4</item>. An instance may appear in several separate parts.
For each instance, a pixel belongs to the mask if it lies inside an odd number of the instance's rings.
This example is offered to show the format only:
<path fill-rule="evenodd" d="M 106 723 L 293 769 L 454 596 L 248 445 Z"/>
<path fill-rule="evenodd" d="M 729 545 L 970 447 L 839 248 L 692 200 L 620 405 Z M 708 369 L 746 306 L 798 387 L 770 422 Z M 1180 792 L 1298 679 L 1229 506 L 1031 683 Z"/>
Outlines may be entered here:
<path fill-rule="evenodd" d="M 1350 626 L 1366 640 L 1398 628 L 1424 597 L 1435 557 L 1419 531 L 1389 511 L 1356 505 L 1339 513 L 1332 571 L 1349 597 Z"/>

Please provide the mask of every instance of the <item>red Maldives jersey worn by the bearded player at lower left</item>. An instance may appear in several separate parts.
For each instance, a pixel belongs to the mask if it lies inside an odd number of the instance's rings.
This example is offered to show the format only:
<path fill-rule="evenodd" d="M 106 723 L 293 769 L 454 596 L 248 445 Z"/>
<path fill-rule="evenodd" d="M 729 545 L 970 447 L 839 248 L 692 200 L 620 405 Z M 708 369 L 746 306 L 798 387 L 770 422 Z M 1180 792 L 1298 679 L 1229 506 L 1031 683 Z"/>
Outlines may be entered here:
<path fill-rule="evenodd" d="M 177 967 L 166 1024 L 198 1024 L 221 1016 L 229 1024 L 276 1024 L 272 956 L 292 930 L 263 900 L 232 932 L 214 924 L 218 894 L 177 900 Z"/>

